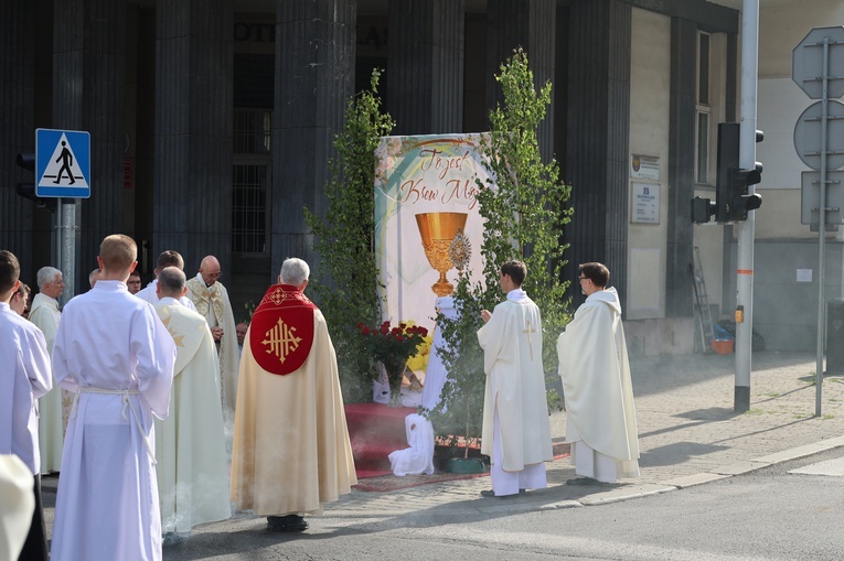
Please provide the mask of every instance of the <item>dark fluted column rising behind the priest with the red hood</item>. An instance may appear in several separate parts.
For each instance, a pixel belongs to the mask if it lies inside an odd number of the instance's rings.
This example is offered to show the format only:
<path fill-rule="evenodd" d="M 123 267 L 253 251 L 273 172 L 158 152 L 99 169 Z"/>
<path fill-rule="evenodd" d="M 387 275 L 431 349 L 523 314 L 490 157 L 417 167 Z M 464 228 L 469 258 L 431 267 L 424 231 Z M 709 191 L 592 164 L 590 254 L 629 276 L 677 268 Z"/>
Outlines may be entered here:
<path fill-rule="evenodd" d="M 354 0 L 276 2 L 273 271 L 287 257 L 316 262 L 302 207 L 324 215 L 328 160 L 354 86 L 355 17 Z"/>

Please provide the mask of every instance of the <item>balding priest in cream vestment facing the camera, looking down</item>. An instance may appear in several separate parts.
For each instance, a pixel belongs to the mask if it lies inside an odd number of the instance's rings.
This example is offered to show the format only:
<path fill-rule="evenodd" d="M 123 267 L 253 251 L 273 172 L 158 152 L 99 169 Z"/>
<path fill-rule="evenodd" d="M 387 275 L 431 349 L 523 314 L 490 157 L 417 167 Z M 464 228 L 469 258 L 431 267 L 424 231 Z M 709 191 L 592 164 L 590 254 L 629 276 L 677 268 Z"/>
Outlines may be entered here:
<path fill-rule="evenodd" d="M 220 355 L 220 377 L 223 388 L 223 419 L 226 434 L 231 439 L 234 430 L 234 412 L 237 404 L 237 373 L 241 368 L 241 353 L 237 348 L 237 328 L 234 312 L 228 300 L 228 291 L 217 279 L 222 274 L 220 261 L 214 256 L 206 256 L 200 263 L 200 272 L 188 281 L 188 298 L 193 301 L 196 311 L 204 316 L 211 327 L 211 334 L 217 342 Z"/>

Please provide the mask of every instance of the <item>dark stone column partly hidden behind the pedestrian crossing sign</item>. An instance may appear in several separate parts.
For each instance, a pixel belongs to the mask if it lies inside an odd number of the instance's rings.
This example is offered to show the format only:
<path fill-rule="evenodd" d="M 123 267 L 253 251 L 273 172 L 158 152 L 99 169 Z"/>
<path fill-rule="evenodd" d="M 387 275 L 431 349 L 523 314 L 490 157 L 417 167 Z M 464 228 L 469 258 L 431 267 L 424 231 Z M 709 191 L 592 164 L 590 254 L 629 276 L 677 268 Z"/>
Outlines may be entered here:
<path fill-rule="evenodd" d="M 53 3 L 52 128 L 90 132 L 90 198 L 76 204 L 76 292 L 99 242 L 124 227 L 126 1 Z"/>

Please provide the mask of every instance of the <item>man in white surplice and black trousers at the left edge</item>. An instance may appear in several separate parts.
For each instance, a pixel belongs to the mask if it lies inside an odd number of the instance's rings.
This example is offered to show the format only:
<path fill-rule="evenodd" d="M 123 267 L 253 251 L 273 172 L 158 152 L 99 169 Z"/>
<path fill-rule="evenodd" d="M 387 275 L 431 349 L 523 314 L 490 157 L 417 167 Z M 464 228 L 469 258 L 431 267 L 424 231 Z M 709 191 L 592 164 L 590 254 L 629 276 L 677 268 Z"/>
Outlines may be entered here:
<path fill-rule="evenodd" d="M 18 258 L 0 251 L 0 454 L 21 458 L 34 477 L 35 508 L 20 559 L 46 561 L 35 400 L 50 391 L 53 378 L 44 334 L 9 306 L 19 276 Z"/>

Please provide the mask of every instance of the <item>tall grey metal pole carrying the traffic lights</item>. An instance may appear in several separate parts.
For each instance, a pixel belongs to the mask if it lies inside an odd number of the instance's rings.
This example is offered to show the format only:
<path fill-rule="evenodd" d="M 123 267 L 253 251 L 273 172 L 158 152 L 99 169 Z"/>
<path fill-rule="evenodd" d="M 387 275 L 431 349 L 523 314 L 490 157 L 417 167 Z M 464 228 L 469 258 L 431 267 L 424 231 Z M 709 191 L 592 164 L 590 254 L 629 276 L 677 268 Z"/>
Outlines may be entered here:
<path fill-rule="evenodd" d="M 756 166 L 756 89 L 759 60 L 759 0 L 744 0 L 741 7 L 741 104 L 738 161 L 742 170 Z M 748 194 L 756 187 L 750 185 Z M 736 268 L 736 388 L 734 410 L 750 409 L 750 357 L 754 343 L 754 237 L 756 212 L 736 222 L 738 258 Z"/>

